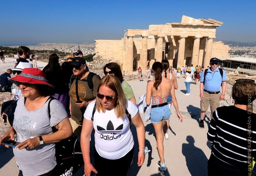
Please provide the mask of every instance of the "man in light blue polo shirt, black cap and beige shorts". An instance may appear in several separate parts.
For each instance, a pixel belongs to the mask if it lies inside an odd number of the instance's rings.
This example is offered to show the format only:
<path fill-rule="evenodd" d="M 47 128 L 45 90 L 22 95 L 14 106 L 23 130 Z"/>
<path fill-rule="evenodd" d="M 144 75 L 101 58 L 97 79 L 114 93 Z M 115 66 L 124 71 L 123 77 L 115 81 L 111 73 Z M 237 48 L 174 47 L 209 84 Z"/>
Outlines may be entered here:
<path fill-rule="evenodd" d="M 226 92 L 226 73 L 223 69 L 219 69 L 218 59 L 212 58 L 210 60 L 211 67 L 205 69 L 202 72 L 200 79 L 200 106 L 201 106 L 201 115 L 200 115 L 200 128 L 204 128 L 203 120 L 205 112 L 207 111 L 209 104 L 211 109 L 211 120 L 212 114 L 217 107 L 220 106 L 220 100 L 225 98 Z M 206 75 L 205 75 L 206 72 Z M 222 92 L 221 92 L 222 86 Z"/>

